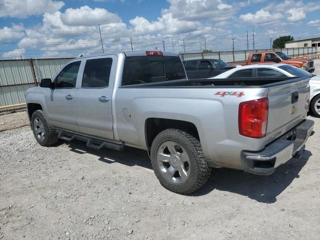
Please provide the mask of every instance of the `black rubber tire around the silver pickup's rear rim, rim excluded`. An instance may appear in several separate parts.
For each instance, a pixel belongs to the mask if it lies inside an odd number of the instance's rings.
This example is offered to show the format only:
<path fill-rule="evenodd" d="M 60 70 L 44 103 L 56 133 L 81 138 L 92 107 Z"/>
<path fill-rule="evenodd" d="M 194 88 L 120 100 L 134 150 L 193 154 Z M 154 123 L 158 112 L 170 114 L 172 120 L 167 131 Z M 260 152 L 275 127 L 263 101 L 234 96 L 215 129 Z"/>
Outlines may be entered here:
<path fill-rule="evenodd" d="M 157 164 L 158 148 L 166 141 L 178 143 L 188 155 L 190 171 L 187 179 L 182 183 L 177 184 L 168 181 Z M 200 188 L 207 181 L 211 172 L 211 168 L 208 167 L 204 158 L 200 142 L 189 133 L 178 129 L 163 130 L 154 138 L 151 145 L 151 163 L 161 185 L 179 194 L 188 194 Z"/>

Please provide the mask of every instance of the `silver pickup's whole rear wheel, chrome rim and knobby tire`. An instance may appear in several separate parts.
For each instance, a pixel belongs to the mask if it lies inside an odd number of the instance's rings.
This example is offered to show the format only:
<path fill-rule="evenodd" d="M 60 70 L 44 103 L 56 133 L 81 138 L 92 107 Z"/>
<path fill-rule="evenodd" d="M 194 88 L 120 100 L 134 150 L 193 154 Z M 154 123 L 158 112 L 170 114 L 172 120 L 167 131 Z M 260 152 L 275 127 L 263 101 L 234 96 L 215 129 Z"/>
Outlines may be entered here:
<path fill-rule="evenodd" d="M 200 142 L 178 129 L 163 130 L 154 138 L 151 162 L 161 185 L 180 194 L 188 194 L 201 187 L 211 171 Z"/>

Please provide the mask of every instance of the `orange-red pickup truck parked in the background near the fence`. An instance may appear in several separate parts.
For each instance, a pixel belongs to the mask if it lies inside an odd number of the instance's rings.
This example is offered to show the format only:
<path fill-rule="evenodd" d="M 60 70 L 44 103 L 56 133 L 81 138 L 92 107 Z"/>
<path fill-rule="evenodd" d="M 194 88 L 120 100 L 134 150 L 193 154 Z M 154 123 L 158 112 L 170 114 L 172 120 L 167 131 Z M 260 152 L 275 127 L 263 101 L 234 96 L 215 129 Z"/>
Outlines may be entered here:
<path fill-rule="evenodd" d="M 229 65 L 249 65 L 259 63 L 286 63 L 313 72 L 315 67 L 312 59 L 292 58 L 282 51 L 251 52 L 247 61 L 228 62 Z"/>

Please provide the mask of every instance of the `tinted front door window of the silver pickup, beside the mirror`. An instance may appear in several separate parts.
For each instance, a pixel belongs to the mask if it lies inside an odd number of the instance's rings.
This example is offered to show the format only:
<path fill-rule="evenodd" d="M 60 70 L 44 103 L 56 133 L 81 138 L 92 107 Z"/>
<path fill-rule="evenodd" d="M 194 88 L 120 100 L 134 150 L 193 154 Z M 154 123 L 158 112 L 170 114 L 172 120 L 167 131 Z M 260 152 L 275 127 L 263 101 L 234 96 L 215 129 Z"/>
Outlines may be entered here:
<path fill-rule="evenodd" d="M 69 88 L 75 87 L 76 77 L 81 61 L 74 61 L 67 64 L 56 76 L 56 87 Z"/>

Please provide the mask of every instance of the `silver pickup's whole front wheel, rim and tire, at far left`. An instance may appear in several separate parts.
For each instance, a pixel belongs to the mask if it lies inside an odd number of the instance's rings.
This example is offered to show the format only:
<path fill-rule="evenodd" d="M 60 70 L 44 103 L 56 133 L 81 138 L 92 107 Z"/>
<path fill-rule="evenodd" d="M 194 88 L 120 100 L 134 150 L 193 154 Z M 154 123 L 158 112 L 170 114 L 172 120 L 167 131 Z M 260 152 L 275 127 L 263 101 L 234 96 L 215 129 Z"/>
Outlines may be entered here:
<path fill-rule="evenodd" d="M 45 119 L 42 110 L 36 110 L 31 117 L 31 127 L 36 141 L 42 146 L 49 146 L 57 142 L 58 137 L 54 128 Z"/>

